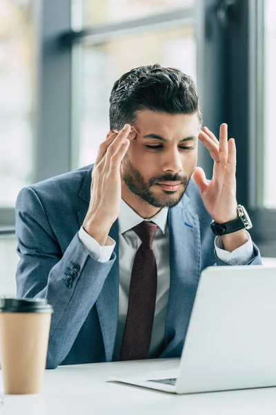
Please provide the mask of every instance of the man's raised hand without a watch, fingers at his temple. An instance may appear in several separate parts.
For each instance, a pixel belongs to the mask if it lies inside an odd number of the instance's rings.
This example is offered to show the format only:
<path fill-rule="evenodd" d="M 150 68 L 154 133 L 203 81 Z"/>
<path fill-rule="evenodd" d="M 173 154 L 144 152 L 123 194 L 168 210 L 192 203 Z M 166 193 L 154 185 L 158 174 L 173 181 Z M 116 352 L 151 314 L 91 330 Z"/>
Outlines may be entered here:
<path fill-rule="evenodd" d="M 120 167 L 130 145 L 130 124 L 101 142 L 92 170 L 90 203 L 83 221 L 84 230 L 104 246 L 121 208 Z M 131 138 L 134 138 L 133 136 Z"/>

